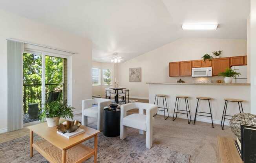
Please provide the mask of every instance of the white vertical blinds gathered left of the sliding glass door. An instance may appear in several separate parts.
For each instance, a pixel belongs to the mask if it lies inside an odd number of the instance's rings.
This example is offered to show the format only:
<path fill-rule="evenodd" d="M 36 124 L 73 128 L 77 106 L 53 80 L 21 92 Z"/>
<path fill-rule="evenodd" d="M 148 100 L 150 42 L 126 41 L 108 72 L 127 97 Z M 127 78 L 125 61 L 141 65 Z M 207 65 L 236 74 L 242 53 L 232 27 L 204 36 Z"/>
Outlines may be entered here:
<path fill-rule="evenodd" d="M 7 41 L 8 132 L 22 128 L 22 53 L 23 43 Z"/>

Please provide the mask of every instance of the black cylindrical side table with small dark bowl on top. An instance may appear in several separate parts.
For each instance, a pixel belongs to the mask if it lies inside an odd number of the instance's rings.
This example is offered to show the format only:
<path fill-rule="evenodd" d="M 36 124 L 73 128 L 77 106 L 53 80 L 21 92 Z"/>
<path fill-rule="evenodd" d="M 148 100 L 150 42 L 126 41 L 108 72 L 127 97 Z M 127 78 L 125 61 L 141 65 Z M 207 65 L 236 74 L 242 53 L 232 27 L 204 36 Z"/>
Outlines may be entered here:
<path fill-rule="evenodd" d="M 120 114 L 118 105 L 111 104 L 104 109 L 103 135 L 107 137 L 116 137 L 120 135 Z"/>

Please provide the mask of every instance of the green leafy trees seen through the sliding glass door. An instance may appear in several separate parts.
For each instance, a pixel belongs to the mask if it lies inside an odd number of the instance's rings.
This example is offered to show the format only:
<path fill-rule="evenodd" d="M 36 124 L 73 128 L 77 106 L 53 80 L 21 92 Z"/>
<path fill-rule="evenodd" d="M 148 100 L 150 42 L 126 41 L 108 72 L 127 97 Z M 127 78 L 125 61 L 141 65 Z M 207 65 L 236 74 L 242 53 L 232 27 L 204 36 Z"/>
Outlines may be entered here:
<path fill-rule="evenodd" d="M 42 79 L 42 56 L 30 53 L 23 53 L 23 84 L 24 103 L 26 110 L 28 103 L 41 104 L 41 79 Z M 54 90 L 63 90 L 62 84 L 49 85 L 63 82 L 63 58 L 45 57 L 45 83 L 46 98 L 48 93 Z M 25 94 L 26 93 L 26 94 Z M 26 95 L 26 96 L 25 96 Z M 25 101 L 26 99 L 26 101 Z M 47 100 L 47 99 L 46 99 Z"/>

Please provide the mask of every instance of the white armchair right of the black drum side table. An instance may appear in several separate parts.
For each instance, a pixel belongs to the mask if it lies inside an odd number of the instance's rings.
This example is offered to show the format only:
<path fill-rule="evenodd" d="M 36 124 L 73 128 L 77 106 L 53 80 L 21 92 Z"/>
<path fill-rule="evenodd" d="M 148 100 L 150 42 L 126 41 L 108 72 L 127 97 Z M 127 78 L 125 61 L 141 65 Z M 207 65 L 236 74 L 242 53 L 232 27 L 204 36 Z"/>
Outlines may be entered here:
<path fill-rule="evenodd" d="M 126 115 L 126 112 L 131 109 L 139 109 L 139 114 Z M 143 113 L 146 110 L 146 115 Z M 150 149 L 153 143 L 153 123 L 154 115 L 157 113 L 157 105 L 150 103 L 127 103 L 121 105 L 121 120 L 120 120 L 120 138 L 126 138 L 126 126 L 139 129 L 139 134 L 144 134 L 146 131 L 146 148 Z"/>

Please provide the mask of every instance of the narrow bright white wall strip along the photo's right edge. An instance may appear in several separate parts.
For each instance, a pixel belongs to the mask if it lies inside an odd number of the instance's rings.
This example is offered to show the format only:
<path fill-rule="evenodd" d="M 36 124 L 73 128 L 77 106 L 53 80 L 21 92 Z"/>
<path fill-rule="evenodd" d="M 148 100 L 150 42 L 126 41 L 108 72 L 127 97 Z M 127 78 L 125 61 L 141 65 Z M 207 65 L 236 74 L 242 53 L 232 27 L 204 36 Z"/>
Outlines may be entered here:
<path fill-rule="evenodd" d="M 256 1 L 251 0 L 251 113 L 256 114 Z"/>

